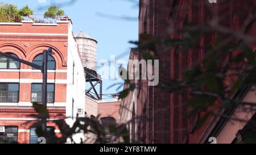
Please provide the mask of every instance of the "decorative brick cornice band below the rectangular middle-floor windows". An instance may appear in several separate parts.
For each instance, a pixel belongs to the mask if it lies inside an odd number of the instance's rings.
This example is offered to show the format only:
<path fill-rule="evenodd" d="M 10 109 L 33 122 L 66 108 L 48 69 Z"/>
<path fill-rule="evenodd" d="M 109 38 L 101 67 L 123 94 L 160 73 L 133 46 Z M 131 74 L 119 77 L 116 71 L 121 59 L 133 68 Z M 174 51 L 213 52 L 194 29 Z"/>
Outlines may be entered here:
<path fill-rule="evenodd" d="M 50 109 L 49 114 L 66 114 L 66 110 L 60 109 Z M 32 109 L 12 109 L 12 108 L 2 108 L 0 113 L 21 113 L 21 114 L 35 114 L 36 111 Z"/>

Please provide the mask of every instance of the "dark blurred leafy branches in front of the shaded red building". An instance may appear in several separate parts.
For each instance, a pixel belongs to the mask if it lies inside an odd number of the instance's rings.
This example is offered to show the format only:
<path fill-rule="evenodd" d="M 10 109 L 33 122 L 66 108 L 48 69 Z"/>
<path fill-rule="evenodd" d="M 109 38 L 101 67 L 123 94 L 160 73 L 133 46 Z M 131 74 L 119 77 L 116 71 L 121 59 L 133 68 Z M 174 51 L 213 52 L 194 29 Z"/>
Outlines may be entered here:
<path fill-rule="evenodd" d="M 139 36 L 139 41 L 130 41 L 137 45 L 139 55 L 144 60 L 158 59 L 165 54 L 164 52 L 171 52 L 171 49 L 175 49 L 174 55 L 188 55 L 189 51 L 205 53 L 201 59 L 196 57 L 197 61 L 183 69 L 182 78 L 160 78 L 162 81 L 158 86 L 162 91 L 181 95 L 189 107 L 189 117 L 203 112 L 203 116 L 195 125 L 196 129 L 199 129 L 209 116 L 219 116 L 216 112 L 220 108 L 231 110 L 242 105 L 250 106 L 246 110 L 255 112 L 255 103 L 242 102 L 242 98 L 237 97 L 237 93 L 249 90 L 256 83 L 255 52 L 250 47 L 252 43 L 256 43 L 256 38 L 247 33 L 255 18 L 247 19 L 250 21 L 247 25 L 243 23 L 245 25 L 242 27 L 246 27 L 246 31 L 236 32 L 222 26 L 220 19 L 214 19 L 217 15 L 212 14 L 209 14 L 209 20 L 200 25 L 186 22 L 182 28 L 174 28 L 172 34 L 167 29 L 166 36 L 158 37 L 143 33 Z M 249 17 L 251 16 L 254 15 Z M 209 44 L 200 44 L 203 37 L 212 37 L 213 34 L 214 39 Z M 170 38 L 170 35 L 179 37 Z M 126 98 L 130 91 L 133 90 L 123 90 L 119 97 Z M 252 133 L 248 132 L 250 136 L 247 136 L 254 139 L 254 143 L 255 131 L 251 129 Z M 251 142 L 247 140 L 247 143 Z"/>

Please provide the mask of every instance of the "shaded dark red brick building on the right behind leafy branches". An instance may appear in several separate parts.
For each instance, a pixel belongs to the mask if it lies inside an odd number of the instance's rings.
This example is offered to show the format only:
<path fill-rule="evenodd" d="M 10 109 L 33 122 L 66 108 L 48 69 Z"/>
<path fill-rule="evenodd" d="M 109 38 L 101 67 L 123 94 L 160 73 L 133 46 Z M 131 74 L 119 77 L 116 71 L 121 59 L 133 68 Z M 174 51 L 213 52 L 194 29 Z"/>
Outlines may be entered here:
<path fill-rule="evenodd" d="M 244 3 L 250 4 L 246 5 L 249 7 L 244 7 Z M 219 16 L 227 15 L 222 25 L 237 31 L 245 22 L 246 16 L 236 12 L 239 10 L 247 14 L 255 8 L 256 2 L 217 1 L 217 3 L 208 3 L 206 0 L 141 0 L 139 1 L 139 34 L 144 33 L 158 38 L 170 39 L 182 37 L 172 34 L 172 27 L 181 28 L 185 23 L 202 24 L 208 18 L 209 9 L 207 5 L 212 5 L 213 10 L 219 12 Z M 255 23 L 247 32 L 255 36 Z M 215 39 L 216 35 L 214 33 L 201 36 L 200 45 L 202 47 L 207 46 L 214 43 Z M 254 46 L 252 48 L 254 49 Z M 203 58 L 205 51 L 200 49 L 177 53 L 175 49 L 164 51 L 164 48 L 158 45 L 156 53 L 155 59 L 159 60 L 160 64 L 159 78 L 163 82 L 168 79 L 183 78 L 184 69 L 192 67 L 196 61 Z M 131 52 L 130 59 L 141 60 L 142 58 L 140 54 L 135 54 L 134 57 L 134 51 Z M 188 118 L 187 110 L 189 107 L 184 105 L 185 100 L 181 95 L 164 91 L 161 87 L 161 81 L 158 86 L 148 86 L 147 80 L 138 80 L 135 83 L 137 83 L 137 89 L 122 100 L 119 110 L 123 123 L 131 120 L 131 118 L 140 117 L 140 119 L 136 119 L 130 124 L 132 140 L 142 140 L 143 143 L 205 143 L 208 141 L 208 136 L 211 136 L 210 133 L 213 128 L 216 124 L 219 124 L 217 122 L 220 121 L 220 118 L 212 116 L 203 127 L 195 131 L 195 123 L 204 115 L 203 111 L 193 118 Z M 228 115 L 232 115 L 232 113 Z M 221 121 L 222 123 L 225 122 L 225 120 Z M 229 125 L 226 131 L 231 128 L 237 131 L 237 129 L 243 128 L 244 125 L 241 125 L 240 128 Z M 236 124 L 235 126 L 239 125 Z M 221 128 L 218 128 L 216 132 L 220 131 Z M 232 134 L 229 135 L 229 138 L 226 137 L 226 141 L 218 141 L 220 143 L 231 143 L 231 139 L 236 137 L 236 133 L 232 132 Z"/>

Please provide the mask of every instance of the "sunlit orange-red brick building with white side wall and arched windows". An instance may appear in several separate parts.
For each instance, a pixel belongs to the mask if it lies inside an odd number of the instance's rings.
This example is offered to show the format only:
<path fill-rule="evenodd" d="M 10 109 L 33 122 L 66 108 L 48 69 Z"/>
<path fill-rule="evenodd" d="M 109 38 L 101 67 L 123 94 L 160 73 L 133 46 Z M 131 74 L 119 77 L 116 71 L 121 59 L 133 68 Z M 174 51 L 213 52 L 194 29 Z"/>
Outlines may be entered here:
<path fill-rule="evenodd" d="M 42 65 L 44 49 L 48 56 L 47 107 L 50 119 L 84 116 L 85 77 L 79 50 L 73 38 L 72 22 L 35 23 L 23 20 L 0 23 L 0 51 Z M 0 56 L 0 139 L 9 143 L 37 143 L 31 124 L 35 118 L 32 102 L 42 102 L 42 73 L 30 66 Z M 63 114 L 63 116 L 57 116 Z M 26 123 L 32 121 L 30 123 Z M 55 124 L 49 122 L 49 127 Z M 55 127 L 55 132 L 59 133 Z"/>

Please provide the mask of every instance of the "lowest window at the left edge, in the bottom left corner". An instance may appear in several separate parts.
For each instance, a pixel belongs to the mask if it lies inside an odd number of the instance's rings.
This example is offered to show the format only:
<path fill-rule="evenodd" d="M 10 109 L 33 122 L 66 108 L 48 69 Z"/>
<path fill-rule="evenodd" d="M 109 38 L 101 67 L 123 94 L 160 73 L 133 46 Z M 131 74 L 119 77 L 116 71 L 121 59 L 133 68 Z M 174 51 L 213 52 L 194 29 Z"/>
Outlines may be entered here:
<path fill-rule="evenodd" d="M 0 133 L 0 143 L 18 143 L 18 127 L 5 126 L 5 132 Z"/>

